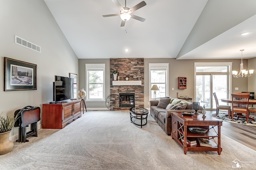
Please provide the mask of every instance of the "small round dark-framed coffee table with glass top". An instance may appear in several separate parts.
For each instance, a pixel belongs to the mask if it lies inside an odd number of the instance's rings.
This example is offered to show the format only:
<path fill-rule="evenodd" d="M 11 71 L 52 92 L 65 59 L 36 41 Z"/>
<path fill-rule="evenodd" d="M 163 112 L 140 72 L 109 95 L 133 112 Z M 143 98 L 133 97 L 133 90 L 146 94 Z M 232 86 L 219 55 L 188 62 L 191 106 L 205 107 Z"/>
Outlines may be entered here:
<path fill-rule="evenodd" d="M 131 123 L 136 124 L 137 126 L 145 126 L 148 123 L 148 109 L 145 108 L 130 108 L 130 118 Z M 140 120 L 140 124 L 135 123 L 134 121 Z M 142 120 L 145 120 L 144 124 L 142 124 Z"/>

